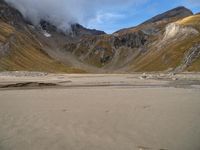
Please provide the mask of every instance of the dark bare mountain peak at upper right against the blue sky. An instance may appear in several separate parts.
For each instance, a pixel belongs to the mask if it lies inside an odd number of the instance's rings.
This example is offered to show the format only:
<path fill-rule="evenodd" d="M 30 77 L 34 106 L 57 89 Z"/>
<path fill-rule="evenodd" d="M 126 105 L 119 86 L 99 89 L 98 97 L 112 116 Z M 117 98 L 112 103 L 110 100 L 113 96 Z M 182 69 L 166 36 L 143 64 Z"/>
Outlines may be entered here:
<path fill-rule="evenodd" d="M 193 15 L 193 12 L 191 10 L 189 10 L 188 8 L 184 7 L 184 6 L 179 6 L 176 7 L 174 9 L 171 9 L 169 11 L 166 11 L 162 14 L 159 14 L 147 21 L 145 21 L 143 24 L 147 24 L 147 23 L 154 23 L 157 21 L 162 21 L 162 20 L 166 20 L 166 19 L 170 19 L 170 18 L 184 18 L 187 16 L 191 16 Z"/>

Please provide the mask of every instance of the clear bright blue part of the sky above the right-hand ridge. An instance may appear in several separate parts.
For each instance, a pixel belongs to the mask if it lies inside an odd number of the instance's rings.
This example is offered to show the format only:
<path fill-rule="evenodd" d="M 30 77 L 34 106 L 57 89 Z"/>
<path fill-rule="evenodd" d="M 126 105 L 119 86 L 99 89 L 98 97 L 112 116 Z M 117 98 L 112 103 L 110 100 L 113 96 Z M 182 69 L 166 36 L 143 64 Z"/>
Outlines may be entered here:
<path fill-rule="evenodd" d="M 121 28 L 140 24 L 177 6 L 185 6 L 194 13 L 200 12 L 200 0 L 124 0 L 121 3 L 113 1 L 113 4 L 105 4 L 101 8 L 96 6 L 98 11 L 85 26 L 112 33 Z"/>

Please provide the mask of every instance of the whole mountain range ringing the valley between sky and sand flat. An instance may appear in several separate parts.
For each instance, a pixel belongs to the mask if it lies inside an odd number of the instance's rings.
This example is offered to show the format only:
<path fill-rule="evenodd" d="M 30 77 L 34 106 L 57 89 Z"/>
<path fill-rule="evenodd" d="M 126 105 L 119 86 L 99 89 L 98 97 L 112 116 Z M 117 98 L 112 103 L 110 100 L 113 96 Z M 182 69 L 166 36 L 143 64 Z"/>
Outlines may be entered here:
<path fill-rule="evenodd" d="M 75 23 L 33 26 L 0 0 L 0 71 L 67 73 L 200 71 L 200 15 L 185 7 L 111 35 Z"/>

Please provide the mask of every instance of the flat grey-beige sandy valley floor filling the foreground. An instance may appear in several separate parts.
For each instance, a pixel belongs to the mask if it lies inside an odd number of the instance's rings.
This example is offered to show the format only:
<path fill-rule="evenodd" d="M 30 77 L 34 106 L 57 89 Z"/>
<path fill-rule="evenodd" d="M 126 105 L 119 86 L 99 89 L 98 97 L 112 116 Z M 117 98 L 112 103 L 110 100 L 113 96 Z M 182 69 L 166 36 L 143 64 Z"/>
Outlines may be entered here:
<path fill-rule="evenodd" d="M 0 73 L 0 150 L 199 150 L 200 74 Z"/>

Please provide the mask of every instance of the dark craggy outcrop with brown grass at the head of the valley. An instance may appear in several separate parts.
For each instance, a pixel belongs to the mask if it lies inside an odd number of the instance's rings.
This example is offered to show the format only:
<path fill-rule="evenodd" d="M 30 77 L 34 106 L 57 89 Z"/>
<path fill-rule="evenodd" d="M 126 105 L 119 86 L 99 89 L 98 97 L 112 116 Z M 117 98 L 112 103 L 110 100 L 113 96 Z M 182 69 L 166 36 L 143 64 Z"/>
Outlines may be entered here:
<path fill-rule="evenodd" d="M 82 62 L 93 63 L 98 67 L 104 67 L 112 62 L 115 56 L 118 57 L 119 53 L 128 55 L 128 53 L 131 54 L 134 51 L 138 53 L 143 52 L 141 49 L 145 47 L 147 42 L 148 35 L 142 31 L 138 31 L 120 36 L 103 35 L 89 38 L 85 37 L 77 42 L 67 43 L 64 49 L 71 52 Z"/>

